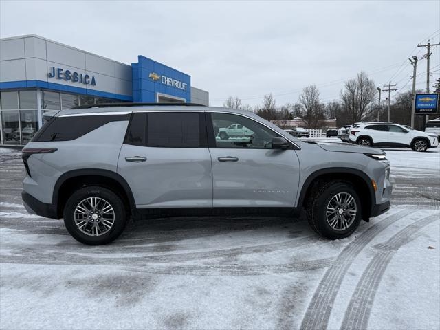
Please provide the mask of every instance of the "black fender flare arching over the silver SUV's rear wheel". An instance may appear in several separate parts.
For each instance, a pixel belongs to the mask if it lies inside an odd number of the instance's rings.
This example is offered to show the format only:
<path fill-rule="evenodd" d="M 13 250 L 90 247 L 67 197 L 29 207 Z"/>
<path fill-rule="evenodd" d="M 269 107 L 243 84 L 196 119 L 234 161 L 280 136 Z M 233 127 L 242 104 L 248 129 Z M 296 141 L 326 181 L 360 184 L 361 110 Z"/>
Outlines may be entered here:
<path fill-rule="evenodd" d="M 69 172 L 63 173 L 58 180 L 56 180 L 56 184 L 54 186 L 54 192 L 52 195 L 52 204 L 58 205 L 58 192 L 60 191 L 61 186 L 67 181 L 67 179 L 72 179 L 72 177 L 82 177 L 85 175 L 96 175 L 100 177 L 108 177 L 109 179 L 113 179 L 118 182 L 124 188 L 124 192 L 126 197 L 129 199 L 130 208 L 136 208 L 135 199 L 133 197 L 133 192 L 129 184 L 125 181 L 125 179 L 118 173 L 113 172 L 112 170 L 104 170 L 97 168 L 85 168 L 80 170 L 69 170 Z"/>

